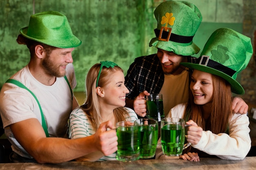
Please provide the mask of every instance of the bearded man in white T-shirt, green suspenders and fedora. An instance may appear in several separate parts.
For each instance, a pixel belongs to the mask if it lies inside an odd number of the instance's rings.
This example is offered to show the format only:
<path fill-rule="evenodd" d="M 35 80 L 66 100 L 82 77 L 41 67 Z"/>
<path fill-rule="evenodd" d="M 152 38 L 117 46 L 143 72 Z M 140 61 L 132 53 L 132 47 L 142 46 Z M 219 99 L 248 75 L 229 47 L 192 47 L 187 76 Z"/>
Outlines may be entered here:
<path fill-rule="evenodd" d="M 31 15 L 17 42 L 27 45 L 31 58 L 0 92 L 11 162 L 60 163 L 95 151 L 114 153 L 117 135 L 107 131 L 114 128 L 111 122 L 102 123 L 89 137 L 65 139 L 70 113 L 78 107 L 72 51 L 81 44 L 67 17 L 57 11 Z"/>

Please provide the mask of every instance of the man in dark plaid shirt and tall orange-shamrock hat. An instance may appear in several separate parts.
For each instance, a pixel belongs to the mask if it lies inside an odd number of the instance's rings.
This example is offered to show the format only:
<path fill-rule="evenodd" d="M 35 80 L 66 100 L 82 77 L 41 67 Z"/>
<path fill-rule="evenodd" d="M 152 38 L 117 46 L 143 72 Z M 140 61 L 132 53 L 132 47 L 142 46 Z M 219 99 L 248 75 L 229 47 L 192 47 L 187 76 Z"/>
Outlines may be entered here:
<path fill-rule="evenodd" d="M 163 94 L 165 116 L 175 105 L 188 102 L 189 72 L 181 62 L 195 63 L 200 48 L 193 43 L 193 36 L 202 21 L 199 9 L 186 1 L 166 1 L 154 11 L 156 37 L 149 46 L 157 48 L 157 54 L 142 56 L 130 65 L 125 77 L 129 89 L 126 106 L 138 116 L 146 116 L 145 96 Z M 247 113 L 248 105 L 239 97 L 233 98 L 234 113 Z"/>

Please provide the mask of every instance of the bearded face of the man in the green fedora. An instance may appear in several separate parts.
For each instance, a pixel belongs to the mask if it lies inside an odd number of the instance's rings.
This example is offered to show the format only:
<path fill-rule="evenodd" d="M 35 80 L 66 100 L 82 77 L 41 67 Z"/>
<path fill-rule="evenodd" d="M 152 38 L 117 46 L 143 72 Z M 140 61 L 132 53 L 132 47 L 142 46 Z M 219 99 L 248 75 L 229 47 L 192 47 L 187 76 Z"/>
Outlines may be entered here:
<path fill-rule="evenodd" d="M 45 53 L 42 61 L 45 73 L 49 76 L 63 77 L 68 63 L 73 63 L 72 51 L 74 48 L 55 48 L 50 54 Z"/>

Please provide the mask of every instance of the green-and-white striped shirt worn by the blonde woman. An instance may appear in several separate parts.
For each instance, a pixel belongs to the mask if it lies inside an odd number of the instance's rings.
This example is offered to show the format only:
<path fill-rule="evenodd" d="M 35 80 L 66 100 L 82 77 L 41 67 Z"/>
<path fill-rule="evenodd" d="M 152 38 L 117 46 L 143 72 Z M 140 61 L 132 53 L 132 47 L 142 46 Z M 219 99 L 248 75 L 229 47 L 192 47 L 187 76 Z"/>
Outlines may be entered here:
<path fill-rule="evenodd" d="M 130 108 L 124 107 L 127 114 L 124 115 L 125 120 L 137 120 L 137 114 Z M 70 114 L 70 128 L 69 128 L 69 137 L 71 139 L 81 138 L 81 137 L 87 137 L 90 135 L 93 135 L 96 131 L 93 130 L 92 124 L 90 123 L 90 120 L 88 119 L 88 116 L 85 114 L 85 112 L 80 109 L 74 109 L 72 113 Z M 101 157 L 98 161 L 111 161 L 111 160 L 117 160 L 116 159 L 116 152 L 112 153 L 108 156 Z"/>

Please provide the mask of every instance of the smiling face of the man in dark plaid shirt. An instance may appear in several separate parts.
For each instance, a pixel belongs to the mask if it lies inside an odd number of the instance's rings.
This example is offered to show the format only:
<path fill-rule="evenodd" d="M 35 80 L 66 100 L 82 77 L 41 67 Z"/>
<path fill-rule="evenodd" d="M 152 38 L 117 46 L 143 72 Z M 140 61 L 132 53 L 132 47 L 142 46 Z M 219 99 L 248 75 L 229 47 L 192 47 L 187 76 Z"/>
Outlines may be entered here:
<path fill-rule="evenodd" d="M 185 57 L 182 55 L 157 48 L 157 57 L 161 62 L 164 74 L 177 75 L 184 70 L 184 67 L 180 65 L 181 62 L 186 62 L 184 61 Z"/>

